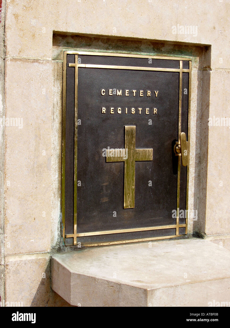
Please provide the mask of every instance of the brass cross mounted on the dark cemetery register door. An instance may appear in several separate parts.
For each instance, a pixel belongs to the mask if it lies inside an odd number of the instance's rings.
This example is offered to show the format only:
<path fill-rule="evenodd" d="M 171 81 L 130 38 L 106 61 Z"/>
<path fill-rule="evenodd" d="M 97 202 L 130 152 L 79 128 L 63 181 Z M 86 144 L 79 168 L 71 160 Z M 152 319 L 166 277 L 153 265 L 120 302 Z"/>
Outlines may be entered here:
<path fill-rule="evenodd" d="M 124 208 L 134 208 L 135 204 L 135 161 L 152 161 L 153 149 L 136 149 L 136 126 L 125 125 L 125 152 L 128 156 L 107 150 L 106 162 L 125 162 L 124 174 Z M 127 157 L 127 158 L 125 158 Z"/>

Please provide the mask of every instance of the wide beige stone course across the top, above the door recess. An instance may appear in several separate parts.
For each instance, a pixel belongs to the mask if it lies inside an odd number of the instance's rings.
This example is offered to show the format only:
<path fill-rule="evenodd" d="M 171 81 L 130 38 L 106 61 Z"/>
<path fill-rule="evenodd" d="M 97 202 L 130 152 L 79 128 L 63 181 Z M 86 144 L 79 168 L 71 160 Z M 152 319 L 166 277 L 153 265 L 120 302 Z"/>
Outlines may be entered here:
<path fill-rule="evenodd" d="M 212 66 L 229 68 L 228 10 L 226 1 L 182 4 L 128 0 L 119 5 L 101 0 L 7 1 L 7 56 L 51 58 L 52 31 L 61 31 L 211 44 Z M 206 17 L 207 12 L 212 12 L 212 19 L 202 21 L 200 17 Z M 178 24 L 182 29 L 174 34 L 173 26 Z M 183 32 L 185 26 L 192 26 L 194 31 Z"/>

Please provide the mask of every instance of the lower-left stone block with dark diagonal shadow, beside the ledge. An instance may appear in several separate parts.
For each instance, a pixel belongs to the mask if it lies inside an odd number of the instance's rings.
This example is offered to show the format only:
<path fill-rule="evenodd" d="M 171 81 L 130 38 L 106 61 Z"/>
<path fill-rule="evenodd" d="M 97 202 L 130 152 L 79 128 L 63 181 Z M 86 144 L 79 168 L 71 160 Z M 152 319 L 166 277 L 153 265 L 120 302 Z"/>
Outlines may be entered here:
<path fill-rule="evenodd" d="M 6 256 L 5 273 L 6 306 L 70 306 L 50 287 L 50 254 Z"/>

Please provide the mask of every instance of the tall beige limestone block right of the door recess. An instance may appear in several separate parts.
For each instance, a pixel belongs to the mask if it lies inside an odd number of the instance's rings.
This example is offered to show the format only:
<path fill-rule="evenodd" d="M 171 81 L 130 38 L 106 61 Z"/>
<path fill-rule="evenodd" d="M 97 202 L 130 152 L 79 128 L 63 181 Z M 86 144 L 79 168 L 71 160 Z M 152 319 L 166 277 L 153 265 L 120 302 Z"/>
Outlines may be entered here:
<path fill-rule="evenodd" d="M 208 127 L 208 175 L 205 225 L 205 233 L 207 235 L 230 233 L 230 226 L 226 223 L 230 220 L 229 84 L 230 72 L 220 70 L 211 72 L 209 118 L 211 119 L 210 124 L 212 125 Z M 206 124 L 208 125 L 208 122 Z"/>

